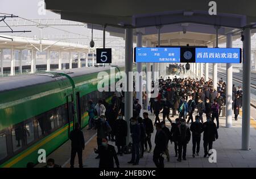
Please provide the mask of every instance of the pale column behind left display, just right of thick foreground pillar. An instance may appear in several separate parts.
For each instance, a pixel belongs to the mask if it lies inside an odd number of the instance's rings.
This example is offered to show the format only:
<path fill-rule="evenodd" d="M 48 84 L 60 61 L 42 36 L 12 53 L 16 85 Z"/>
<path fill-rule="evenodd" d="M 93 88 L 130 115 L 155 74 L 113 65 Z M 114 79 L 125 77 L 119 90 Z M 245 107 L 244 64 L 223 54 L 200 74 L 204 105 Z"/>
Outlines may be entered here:
<path fill-rule="evenodd" d="M 137 47 L 142 47 L 142 33 L 141 32 L 137 32 Z M 142 106 L 142 110 L 141 113 L 139 114 L 139 116 L 142 117 L 142 113 L 143 113 L 143 105 L 142 105 L 142 63 L 136 63 L 137 65 L 137 82 L 136 82 L 136 91 L 137 91 L 137 99 L 139 99 L 139 104 Z"/>

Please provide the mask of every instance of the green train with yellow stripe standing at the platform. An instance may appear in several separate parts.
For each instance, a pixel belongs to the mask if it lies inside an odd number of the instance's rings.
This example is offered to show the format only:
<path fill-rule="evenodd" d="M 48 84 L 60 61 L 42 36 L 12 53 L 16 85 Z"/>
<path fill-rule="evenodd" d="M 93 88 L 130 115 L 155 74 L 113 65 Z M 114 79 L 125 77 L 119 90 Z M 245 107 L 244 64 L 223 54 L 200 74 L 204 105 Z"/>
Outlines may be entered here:
<path fill-rule="evenodd" d="M 36 164 L 39 149 L 49 155 L 68 140 L 75 122 L 85 127 L 88 100 L 113 95 L 97 89 L 102 71 L 110 74 L 110 66 L 0 78 L 0 167 Z M 113 81 L 112 75 L 109 84 Z"/>

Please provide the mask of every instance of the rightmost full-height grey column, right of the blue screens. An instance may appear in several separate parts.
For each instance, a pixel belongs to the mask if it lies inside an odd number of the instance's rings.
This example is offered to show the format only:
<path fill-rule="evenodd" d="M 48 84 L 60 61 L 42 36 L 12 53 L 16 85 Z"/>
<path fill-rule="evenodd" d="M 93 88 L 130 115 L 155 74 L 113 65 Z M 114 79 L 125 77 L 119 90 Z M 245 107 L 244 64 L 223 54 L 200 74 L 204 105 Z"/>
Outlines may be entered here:
<path fill-rule="evenodd" d="M 242 150 L 250 149 L 250 84 L 251 84 L 251 30 L 246 27 L 243 40 L 243 99 Z"/>

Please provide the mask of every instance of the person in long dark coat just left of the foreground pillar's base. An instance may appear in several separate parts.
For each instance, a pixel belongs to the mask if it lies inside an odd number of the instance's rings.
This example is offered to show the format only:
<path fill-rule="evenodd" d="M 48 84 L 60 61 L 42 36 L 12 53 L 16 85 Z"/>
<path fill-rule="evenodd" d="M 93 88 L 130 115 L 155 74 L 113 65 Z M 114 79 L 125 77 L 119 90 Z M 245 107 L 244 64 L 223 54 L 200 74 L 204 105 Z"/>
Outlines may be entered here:
<path fill-rule="evenodd" d="M 115 120 L 113 130 L 115 135 L 115 145 L 118 149 L 117 155 L 123 156 L 123 149 L 126 145 L 127 122 L 123 120 L 121 113 L 118 114 L 118 118 Z"/>

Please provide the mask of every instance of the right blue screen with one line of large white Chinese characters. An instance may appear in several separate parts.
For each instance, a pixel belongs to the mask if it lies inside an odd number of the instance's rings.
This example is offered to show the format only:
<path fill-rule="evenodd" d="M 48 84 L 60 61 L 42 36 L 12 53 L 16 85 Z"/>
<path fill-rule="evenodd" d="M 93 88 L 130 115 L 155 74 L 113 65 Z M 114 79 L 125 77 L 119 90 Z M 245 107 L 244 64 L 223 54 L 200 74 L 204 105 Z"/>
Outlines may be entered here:
<path fill-rule="evenodd" d="M 196 48 L 196 63 L 241 63 L 241 48 Z"/>

